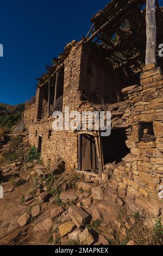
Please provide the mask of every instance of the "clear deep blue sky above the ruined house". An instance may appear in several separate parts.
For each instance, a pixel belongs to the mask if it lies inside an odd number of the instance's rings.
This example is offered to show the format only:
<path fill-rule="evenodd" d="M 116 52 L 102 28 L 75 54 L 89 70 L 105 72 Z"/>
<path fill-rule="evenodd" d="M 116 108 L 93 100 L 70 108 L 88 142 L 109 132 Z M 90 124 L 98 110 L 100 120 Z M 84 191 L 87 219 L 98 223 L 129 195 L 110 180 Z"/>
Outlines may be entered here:
<path fill-rule="evenodd" d="M 0 102 L 16 105 L 35 95 L 35 77 L 66 43 L 80 40 L 91 17 L 109 0 L 5 0 L 0 4 Z M 159 1 L 161 5 L 163 0 Z"/>

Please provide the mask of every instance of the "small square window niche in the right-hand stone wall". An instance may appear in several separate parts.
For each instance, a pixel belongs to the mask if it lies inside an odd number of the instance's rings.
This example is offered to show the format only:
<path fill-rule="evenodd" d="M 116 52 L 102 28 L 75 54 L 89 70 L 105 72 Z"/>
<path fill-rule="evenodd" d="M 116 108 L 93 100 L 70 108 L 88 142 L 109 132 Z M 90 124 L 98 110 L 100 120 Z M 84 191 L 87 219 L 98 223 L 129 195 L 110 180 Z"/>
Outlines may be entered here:
<path fill-rule="evenodd" d="M 140 140 L 143 142 L 155 141 L 155 135 L 153 131 L 153 123 L 141 123 L 140 125 Z"/>

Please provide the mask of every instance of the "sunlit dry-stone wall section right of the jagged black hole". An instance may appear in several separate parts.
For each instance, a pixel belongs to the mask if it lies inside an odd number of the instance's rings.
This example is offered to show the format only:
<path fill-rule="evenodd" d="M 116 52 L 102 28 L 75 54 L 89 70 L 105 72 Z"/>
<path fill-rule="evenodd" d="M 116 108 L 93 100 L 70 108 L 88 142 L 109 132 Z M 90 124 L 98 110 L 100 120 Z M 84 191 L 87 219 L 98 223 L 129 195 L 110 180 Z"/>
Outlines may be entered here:
<path fill-rule="evenodd" d="M 126 122 L 130 154 L 114 170 L 110 186 L 130 208 L 160 216 L 163 215 L 163 202 L 159 198 L 159 187 L 163 185 L 163 77 L 160 68 L 146 66 L 141 74 L 141 86 L 128 87 L 123 93 L 127 107 L 122 119 Z"/>

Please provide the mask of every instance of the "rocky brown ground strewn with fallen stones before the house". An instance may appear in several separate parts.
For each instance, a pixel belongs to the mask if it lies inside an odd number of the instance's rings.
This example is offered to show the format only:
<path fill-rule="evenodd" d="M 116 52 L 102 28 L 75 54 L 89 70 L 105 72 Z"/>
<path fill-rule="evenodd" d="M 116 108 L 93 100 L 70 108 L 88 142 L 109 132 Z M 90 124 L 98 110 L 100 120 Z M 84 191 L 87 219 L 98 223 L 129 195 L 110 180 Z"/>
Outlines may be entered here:
<path fill-rule="evenodd" d="M 34 155 L 29 161 L 27 136 L 18 136 L 23 143 L 14 147 L 9 139 L 1 148 L 10 163 L 5 157 L 0 170 L 0 245 L 162 244 L 159 220 L 154 226 L 129 211 L 107 181 L 67 174 L 61 159 L 53 168 Z"/>

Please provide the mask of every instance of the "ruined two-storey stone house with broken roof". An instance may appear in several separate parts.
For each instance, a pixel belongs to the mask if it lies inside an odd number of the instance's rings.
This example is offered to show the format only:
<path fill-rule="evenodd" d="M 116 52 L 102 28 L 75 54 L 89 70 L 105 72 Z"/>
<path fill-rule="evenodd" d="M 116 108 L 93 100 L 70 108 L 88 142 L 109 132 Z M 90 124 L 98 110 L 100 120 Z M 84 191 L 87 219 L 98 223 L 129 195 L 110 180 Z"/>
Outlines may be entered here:
<path fill-rule="evenodd" d="M 58 157 L 66 172 L 110 182 L 134 209 L 163 214 L 163 60 L 145 65 L 146 1 L 111 1 L 92 17 L 39 79 L 35 104 L 23 114 L 29 142 L 47 166 Z M 157 49 L 163 40 L 156 1 Z M 54 111 L 111 111 L 111 135 L 54 131 Z M 112 164 L 114 163 L 114 164 Z"/>

